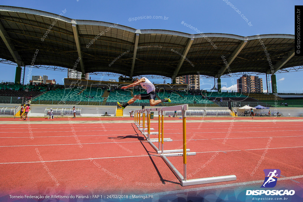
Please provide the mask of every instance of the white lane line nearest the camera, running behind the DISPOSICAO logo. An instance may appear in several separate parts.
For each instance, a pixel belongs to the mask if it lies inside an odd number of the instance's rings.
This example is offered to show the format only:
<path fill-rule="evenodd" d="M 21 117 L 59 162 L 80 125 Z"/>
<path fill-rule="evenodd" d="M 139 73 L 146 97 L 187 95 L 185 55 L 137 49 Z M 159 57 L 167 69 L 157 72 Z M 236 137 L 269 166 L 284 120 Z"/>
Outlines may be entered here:
<path fill-rule="evenodd" d="M 280 177 L 280 180 L 291 180 L 291 179 L 298 179 L 302 178 L 303 175 L 297 175 L 292 177 Z M 235 187 L 235 186 L 245 186 L 248 184 L 257 184 L 257 183 L 263 183 L 264 180 L 256 180 L 256 181 L 249 181 L 249 182 L 239 182 L 239 183 L 231 183 L 231 184 L 222 184 L 222 185 L 215 185 L 215 186 L 208 186 L 208 187 L 198 187 L 198 188 L 190 188 L 190 189 L 181 189 L 181 190 L 175 190 L 175 191 L 165 191 L 165 192 L 158 192 L 158 193 L 152 193 L 150 195 L 168 195 L 168 194 L 179 194 L 179 193 L 188 193 L 191 191 L 200 191 L 200 190 L 208 190 L 208 189 L 219 189 L 219 188 L 225 188 L 225 187 Z M 147 195 L 147 194 L 144 194 Z"/>

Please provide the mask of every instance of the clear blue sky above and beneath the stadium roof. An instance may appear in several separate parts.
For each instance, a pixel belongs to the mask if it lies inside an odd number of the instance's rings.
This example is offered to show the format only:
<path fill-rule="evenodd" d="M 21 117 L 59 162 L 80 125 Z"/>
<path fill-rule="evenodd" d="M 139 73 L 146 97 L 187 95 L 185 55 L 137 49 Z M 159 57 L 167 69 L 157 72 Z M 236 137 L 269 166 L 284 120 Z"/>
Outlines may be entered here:
<path fill-rule="evenodd" d="M 249 26 L 241 16 L 228 5 L 235 5 L 241 14 L 251 22 Z M 228 33 L 241 36 L 257 34 L 294 34 L 294 6 L 301 5 L 302 1 L 242 1 L 242 0 L 211 0 L 211 1 L 20 1 L 2 0 L 2 5 L 32 8 L 60 14 L 66 9 L 65 17 L 73 19 L 96 20 L 119 23 L 136 29 L 166 29 L 196 34 L 194 30 L 181 25 L 181 22 L 190 23 L 204 33 Z M 130 18 L 140 16 L 162 16 L 163 19 Z M 15 80 L 15 66 L 0 63 L 0 81 Z M 66 72 L 33 69 L 32 75 L 48 75 L 55 78 L 60 84 L 66 77 Z M 302 72 L 277 74 L 278 91 L 303 91 Z M 100 78 L 101 76 L 92 76 Z M 264 84 L 265 75 L 261 75 Z M 105 79 L 108 79 L 104 77 Z M 160 80 L 153 80 L 161 82 Z M 169 80 L 167 80 L 170 83 Z M 214 79 L 203 79 L 204 83 L 213 84 Z M 231 78 L 222 78 L 228 87 L 232 86 Z M 263 87 L 266 89 L 266 86 Z"/>

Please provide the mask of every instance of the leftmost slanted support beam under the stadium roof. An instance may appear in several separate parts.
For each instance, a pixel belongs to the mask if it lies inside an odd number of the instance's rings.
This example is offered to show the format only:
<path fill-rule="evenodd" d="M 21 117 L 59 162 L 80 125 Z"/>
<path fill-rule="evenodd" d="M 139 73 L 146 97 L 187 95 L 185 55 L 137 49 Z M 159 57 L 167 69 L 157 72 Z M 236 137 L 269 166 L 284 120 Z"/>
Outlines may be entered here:
<path fill-rule="evenodd" d="M 11 53 L 12 57 L 14 58 L 15 62 L 17 63 L 18 67 L 24 66 L 24 62 L 22 61 L 21 56 L 18 54 L 17 51 L 15 51 L 15 47 L 12 44 L 12 41 L 9 38 L 9 35 L 5 30 L 4 26 L 2 25 L 1 21 L 0 21 L 0 36 L 4 41 L 6 47 L 8 48 L 9 52 Z"/>

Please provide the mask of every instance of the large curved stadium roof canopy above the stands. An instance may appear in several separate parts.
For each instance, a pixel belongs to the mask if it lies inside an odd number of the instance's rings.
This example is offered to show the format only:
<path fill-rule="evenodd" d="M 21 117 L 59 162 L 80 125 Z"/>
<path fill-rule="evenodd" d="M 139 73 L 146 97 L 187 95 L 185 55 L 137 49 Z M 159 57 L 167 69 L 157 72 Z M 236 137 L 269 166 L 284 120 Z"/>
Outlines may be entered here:
<path fill-rule="evenodd" d="M 169 78 L 196 74 L 219 78 L 235 72 L 270 74 L 269 62 L 273 72 L 303 64 L 303 57 L 295 56 L 294 35 L 244 37 L 138 30 L 108 22 L 74 20 L 65 17 L 65 12 L 57 15 L 0 6 L 0 58 L 18 66 L 34 61 L 34 65 L 75 67 L 82 73 Z"/>

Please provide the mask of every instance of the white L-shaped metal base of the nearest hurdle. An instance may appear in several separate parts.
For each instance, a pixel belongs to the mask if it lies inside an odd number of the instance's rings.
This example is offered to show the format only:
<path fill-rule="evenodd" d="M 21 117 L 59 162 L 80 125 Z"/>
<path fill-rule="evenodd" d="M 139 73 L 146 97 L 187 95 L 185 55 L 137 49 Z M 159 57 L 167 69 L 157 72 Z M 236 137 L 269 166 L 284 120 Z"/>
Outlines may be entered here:
<path fill-rule="evenodd" d="M 190 185 L 197 185 L 197 184 L 208 184 L 208 183 L 215 183 L 215 182 L 225 182 L 225 181 L 237 180 L 237 177 L 235 175 L 225 175 L 225 176 L 218 176 L 218 177 L 205 177 L 205 178 L 184 180 L 183 175 L 166 158 L 166 156 L 168 156 L 168 155 L 167 154 L 161 155 L 164 162 L 168 165 L 168 167 L 171 169 L 171 171 L 175 174 L 175 176 L 180 181 L 181 186 L 190 186 Z"/>

